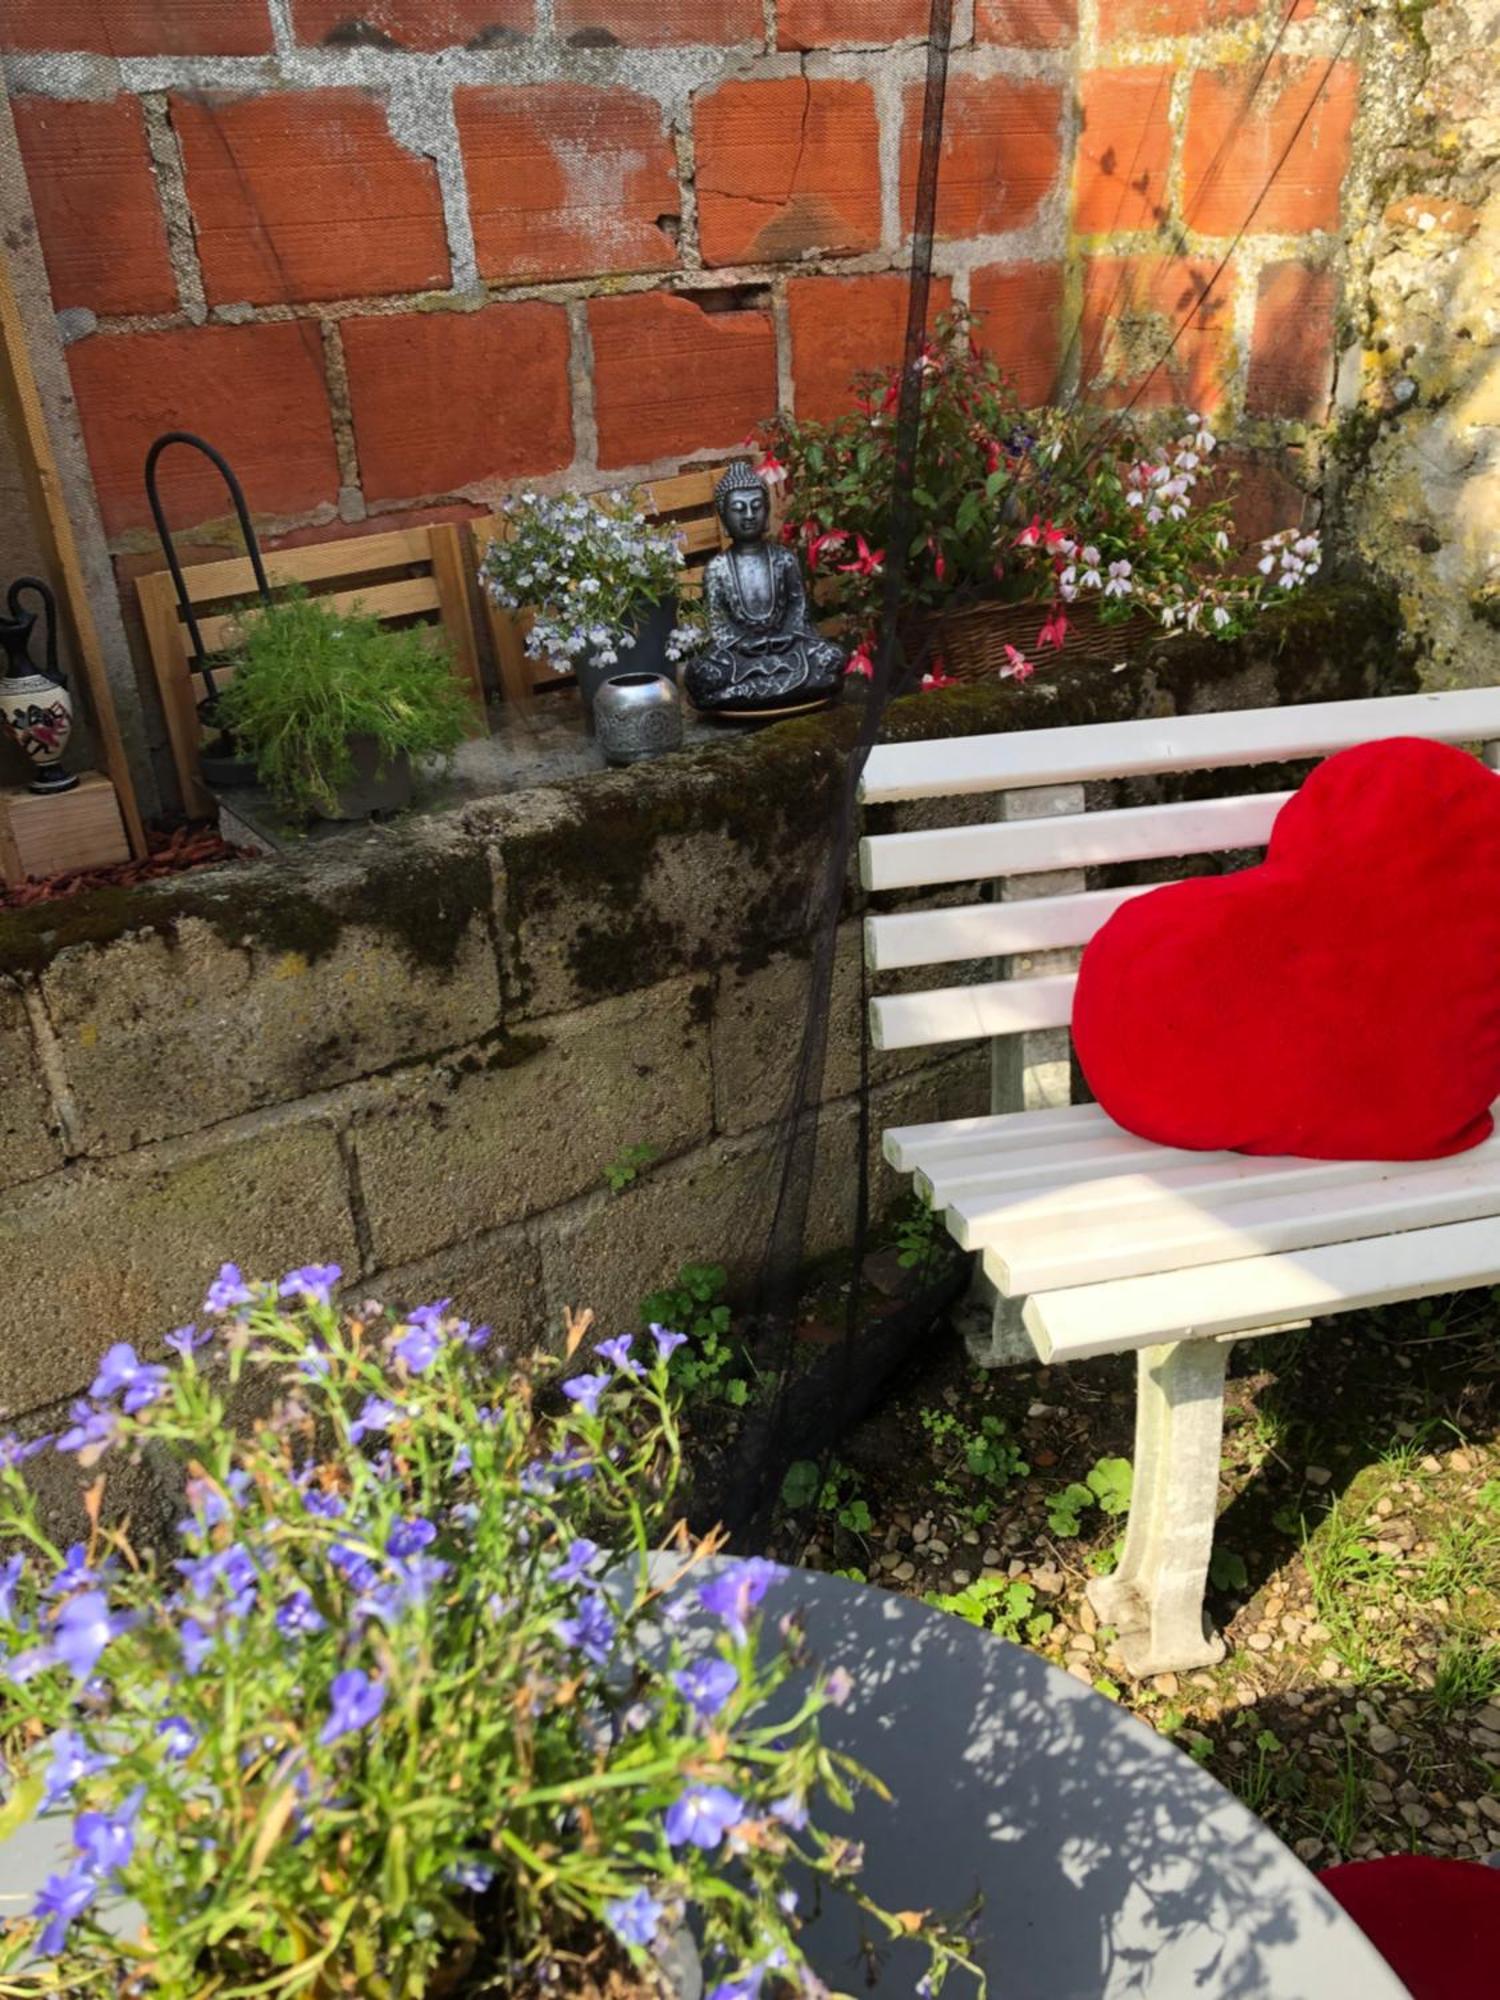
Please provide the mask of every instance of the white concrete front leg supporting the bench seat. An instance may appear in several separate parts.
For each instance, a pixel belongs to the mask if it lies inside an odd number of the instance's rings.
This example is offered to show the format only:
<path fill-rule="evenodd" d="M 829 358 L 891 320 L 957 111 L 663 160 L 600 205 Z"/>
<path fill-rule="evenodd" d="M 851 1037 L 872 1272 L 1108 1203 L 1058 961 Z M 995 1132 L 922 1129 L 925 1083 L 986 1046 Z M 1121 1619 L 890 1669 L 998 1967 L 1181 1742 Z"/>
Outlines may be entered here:
<path fill-rule="evenodd" d="M 1224 1640 L 1204 1614 L 1204 1590 L 1218 1516 L 1230 1346 L 1174 1340 L 1138 1356 L 1126 1546 L 1116 1574 L 1088 1586 L 1088 1602 L 1120 1632 L 1126 1672 L 1138 1678 L 1224 1658 Z"/>

